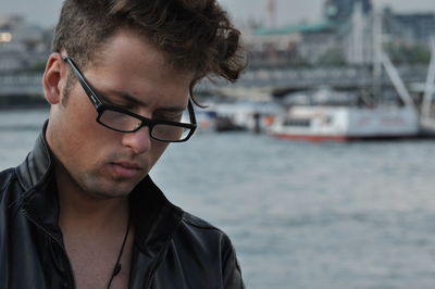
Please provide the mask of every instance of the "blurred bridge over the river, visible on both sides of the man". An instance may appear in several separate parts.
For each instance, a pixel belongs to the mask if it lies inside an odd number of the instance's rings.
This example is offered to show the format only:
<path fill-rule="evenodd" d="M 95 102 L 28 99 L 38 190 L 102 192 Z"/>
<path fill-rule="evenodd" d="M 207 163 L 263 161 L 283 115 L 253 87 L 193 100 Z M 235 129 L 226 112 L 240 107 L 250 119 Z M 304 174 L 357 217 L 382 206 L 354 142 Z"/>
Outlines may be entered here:
<path fill-rule="evenodd" d="M 398 72 L 409 86 L 424 83 L 427 67 L 424 65 L 399 66 Z M 11 97 L 41 98 L 41 73 L 0 75 L 0 99 Z M 386 75 L 377 79 L 380 85 L 389 86 Z M 330 86 L 337 89 L 358 89 L 373 84 L 370 67 L 298 67 L 298 68 L 249 68 L 236 84 L 203 81 L 199 92 L 223 93 L 229 97 L 256 99 L 288 91 Z"/>

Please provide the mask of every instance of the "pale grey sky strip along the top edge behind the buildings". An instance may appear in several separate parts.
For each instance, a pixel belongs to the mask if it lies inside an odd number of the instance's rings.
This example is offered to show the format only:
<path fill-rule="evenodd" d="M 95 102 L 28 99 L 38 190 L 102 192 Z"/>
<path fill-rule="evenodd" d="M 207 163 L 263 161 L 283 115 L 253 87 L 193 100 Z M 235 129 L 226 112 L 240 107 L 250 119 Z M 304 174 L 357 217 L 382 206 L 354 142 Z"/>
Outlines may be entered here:
<path fill-rule="evenodd" d="M 238 24 L 249 18 L 266 22 L 266 0 L 219 0 Z M 315 22 L 321 18 L 325 0 L 276 0 L 276 24 Z M 396 12 L 434 12 L 435 0 L 372 0 L 377 7 L 388 4 Z M 0 15 L 22 14 L 30 23 L 53 26 L 62 0 L 1 0 Z"/>

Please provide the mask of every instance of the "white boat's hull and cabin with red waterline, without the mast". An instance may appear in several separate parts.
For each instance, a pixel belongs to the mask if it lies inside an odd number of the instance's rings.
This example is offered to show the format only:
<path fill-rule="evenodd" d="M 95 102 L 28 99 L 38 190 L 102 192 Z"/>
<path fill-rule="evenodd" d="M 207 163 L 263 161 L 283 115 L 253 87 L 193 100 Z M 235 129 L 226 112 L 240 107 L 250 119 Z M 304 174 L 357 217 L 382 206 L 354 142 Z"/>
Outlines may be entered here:
<path fill-rule="evenodd" d="M 275 120 L 271 134 L 310 141 L 412 138 L 419 135 L 419 117 L 407 106 L 296 105 Z"/>

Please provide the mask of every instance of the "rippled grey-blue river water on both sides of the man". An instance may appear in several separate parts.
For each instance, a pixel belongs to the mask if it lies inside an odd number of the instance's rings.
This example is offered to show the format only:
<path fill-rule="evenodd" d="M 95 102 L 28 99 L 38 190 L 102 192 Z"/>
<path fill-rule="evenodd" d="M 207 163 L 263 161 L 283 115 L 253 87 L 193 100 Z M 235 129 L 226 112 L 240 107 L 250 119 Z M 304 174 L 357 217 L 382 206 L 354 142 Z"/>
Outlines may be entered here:
<path fill-rule="evenodd" d="M 0 169 L 46 111 L 0 111 Z M 151 172 L 169 199 L 225 230 L 247 288 L 435 286 L 435 142 L 307 143 L 198 134 Z"/>

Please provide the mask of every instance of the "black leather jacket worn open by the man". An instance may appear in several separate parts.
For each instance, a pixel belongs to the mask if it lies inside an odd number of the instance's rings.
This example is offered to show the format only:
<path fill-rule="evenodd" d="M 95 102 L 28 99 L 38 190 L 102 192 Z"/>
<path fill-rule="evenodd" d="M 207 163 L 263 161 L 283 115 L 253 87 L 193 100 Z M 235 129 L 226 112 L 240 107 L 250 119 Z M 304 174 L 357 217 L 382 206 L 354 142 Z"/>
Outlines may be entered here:
<path fill-rule="evenodd" d="M 0 173 L 0 289 L 75 288 L 58 225 L 44 133 L 25 162 Z M 170 203 L 147 176 L 130 194 L 129 288 L 245 288 L 228 237 Z"/>

